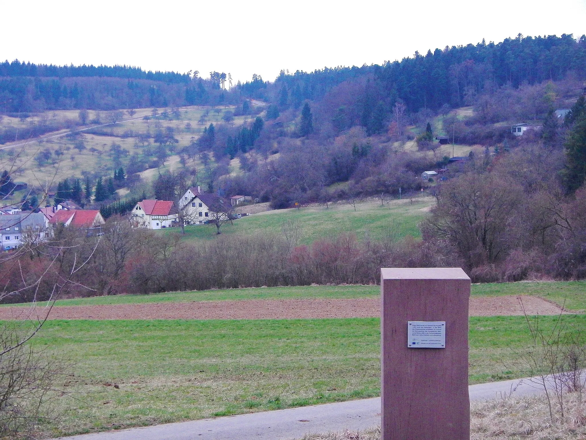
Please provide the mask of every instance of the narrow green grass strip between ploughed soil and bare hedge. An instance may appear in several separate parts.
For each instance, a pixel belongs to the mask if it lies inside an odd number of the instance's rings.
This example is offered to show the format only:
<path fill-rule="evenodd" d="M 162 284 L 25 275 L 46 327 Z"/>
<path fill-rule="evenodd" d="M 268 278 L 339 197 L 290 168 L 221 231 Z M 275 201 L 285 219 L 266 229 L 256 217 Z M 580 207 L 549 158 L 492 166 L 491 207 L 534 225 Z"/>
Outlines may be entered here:
<path fill-rule="evenodd" d="M 166 292 L 152 295 L 94 296 L 63 299 L 57 306 L 90 306 L 92 304 L 136 304 L 190 301 L 223 301 L 244 299 L 363 298 L 378 296 L 380 286 L 287 286 L 252 287 L 250 289 L 200 290 Z M 586 281 L 486 283 L 472 285 L 472 296 L 537 295 L 568 310 L 586 309 Z M 5 304 L 6 307 L 18 304 Z M 22 305 L 22 304 L 19 304 Z"/>

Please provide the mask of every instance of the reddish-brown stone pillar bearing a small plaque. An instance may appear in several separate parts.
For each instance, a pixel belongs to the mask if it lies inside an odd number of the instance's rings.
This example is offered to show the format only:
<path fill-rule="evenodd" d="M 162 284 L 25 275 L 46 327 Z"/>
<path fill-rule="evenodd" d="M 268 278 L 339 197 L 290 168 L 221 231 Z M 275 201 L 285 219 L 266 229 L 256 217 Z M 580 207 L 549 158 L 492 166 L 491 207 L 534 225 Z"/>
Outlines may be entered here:
<path fill-rule="evenodd" d="M 469 440 L 470 278 L 460 268 L 381 269 L 380 290 L 383 440 Z"/>

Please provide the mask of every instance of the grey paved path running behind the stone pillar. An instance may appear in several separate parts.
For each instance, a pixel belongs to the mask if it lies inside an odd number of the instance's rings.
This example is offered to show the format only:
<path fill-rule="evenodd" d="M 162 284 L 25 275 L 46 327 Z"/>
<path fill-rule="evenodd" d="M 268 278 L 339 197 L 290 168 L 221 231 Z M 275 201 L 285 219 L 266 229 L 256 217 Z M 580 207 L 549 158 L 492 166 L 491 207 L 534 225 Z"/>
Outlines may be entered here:
<path fill-rule="evenodd" d="M 471 385 L 472 401 L 539 394 L 529 380 Z M 380 425 L 380 397 L 66 437 L 68 440 L 284 440 Z"/>

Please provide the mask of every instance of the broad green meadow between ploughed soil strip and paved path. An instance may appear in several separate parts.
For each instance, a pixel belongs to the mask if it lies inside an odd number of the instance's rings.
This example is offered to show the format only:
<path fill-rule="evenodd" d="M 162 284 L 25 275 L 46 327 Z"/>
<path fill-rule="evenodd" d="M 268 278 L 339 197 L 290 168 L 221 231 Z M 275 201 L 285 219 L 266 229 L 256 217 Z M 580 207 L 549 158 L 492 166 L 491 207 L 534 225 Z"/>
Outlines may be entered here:
<path fill-rule="evenodd" d="M 566 319 L 586 323 L 585 315 Z M 506 364 L 529 342 L 523 317 L 470 323 L 471 384 L 527 374 Z M 379 326 L 379 319 L 49 321 L 34 343 L 74 364 L 66 387 L 73 394 L 60 400 L 65 419 L 53 432 L 73 434 L 378 395 Z"/>

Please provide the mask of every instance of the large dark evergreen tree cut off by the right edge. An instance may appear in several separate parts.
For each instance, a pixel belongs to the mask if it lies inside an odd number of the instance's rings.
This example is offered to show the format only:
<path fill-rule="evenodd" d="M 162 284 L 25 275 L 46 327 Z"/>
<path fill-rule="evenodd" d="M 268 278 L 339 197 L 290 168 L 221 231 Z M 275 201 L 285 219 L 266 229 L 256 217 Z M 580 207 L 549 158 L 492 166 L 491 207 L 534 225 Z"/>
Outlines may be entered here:
<path fill-rule="evenodd" d="M 580 188 L 586 178 L 586 114 L 575 120 L 565 142 L 567 164 L 563 179 L 568 193 Z"/>

